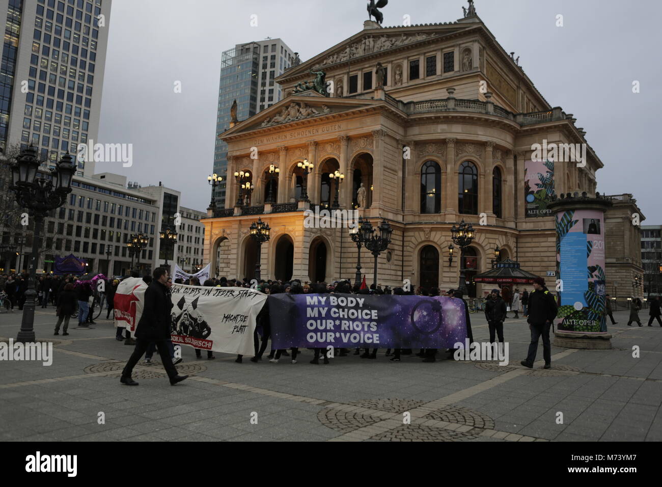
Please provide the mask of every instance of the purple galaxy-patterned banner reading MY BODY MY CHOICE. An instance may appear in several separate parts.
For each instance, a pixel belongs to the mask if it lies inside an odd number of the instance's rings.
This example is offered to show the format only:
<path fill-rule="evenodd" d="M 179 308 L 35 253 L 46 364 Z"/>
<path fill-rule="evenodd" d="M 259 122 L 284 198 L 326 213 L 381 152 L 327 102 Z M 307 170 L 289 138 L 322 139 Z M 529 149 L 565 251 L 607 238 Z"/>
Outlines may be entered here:
<path fill-rule="evenodd" d="M 446 296 L 275 294 L 268 302 L 275 349 L 441 349 L 467 337 L 464 302 Z"/>

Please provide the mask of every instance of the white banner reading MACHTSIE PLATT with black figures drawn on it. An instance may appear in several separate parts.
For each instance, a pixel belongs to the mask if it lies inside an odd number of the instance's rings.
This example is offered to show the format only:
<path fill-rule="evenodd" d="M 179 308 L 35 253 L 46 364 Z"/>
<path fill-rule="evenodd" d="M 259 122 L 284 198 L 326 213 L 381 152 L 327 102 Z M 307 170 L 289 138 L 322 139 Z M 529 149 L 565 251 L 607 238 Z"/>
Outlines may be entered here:
<path fill-rule="evenodd" d="M 267 295 L 244 288 L 170 288 L 172 343 L 196 349 L 254 355 L 256 317 Z"/>

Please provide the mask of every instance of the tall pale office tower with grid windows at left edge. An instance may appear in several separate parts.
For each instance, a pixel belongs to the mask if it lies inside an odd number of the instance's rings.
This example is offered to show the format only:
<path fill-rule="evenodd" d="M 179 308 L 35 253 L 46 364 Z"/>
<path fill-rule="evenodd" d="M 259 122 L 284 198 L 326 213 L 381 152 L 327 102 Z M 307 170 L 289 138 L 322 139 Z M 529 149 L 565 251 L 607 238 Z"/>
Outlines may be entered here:
<path fill-rule="evenodd" d="M 0 148 L 33 144 L 54 167 L 96 140 L 111 3 L 0 0 Z M 79 160 L 77 175 L 92 174 L 94 163 Z"/>

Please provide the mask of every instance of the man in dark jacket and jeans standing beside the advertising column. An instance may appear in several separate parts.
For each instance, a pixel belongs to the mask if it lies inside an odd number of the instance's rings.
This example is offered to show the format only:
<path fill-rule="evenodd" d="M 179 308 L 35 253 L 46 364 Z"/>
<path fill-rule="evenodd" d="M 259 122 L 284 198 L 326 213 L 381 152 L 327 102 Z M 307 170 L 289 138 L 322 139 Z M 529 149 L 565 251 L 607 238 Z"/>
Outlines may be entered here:
<path fill-rule="evenodd" d="M 532 368 L 538 352 L 538 340 L 542 335 L 542 351 L 545 358 L 544 368 L 551 367 L 551 344 L 549 343 L 549 329 L 556 317 L 556 299 L 545 288 L 543 278 L 534 279 L 534 292 L 529 294 L 528 323 L 531 330 L 531 343 L 526 360 L 520 362 L 523 366 Z"/>

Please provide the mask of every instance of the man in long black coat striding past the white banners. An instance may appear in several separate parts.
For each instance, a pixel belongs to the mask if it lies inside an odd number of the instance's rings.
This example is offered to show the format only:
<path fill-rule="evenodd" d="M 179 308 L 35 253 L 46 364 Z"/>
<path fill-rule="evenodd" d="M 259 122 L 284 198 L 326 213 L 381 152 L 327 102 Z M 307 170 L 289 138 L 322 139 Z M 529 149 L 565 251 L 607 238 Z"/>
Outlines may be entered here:
<path fill-rule="evenodd" d="M 167 269 L 158 267 L 154 269 L 153 276 L 154 280 L 145 291 L 145 305 L 136 327 L 136 348 L 126 362 L 126 366 L 122 370 L 122 378 L 120 378 L 120 382 L 127 386 L 138 385 L 138 382 L 131 378 L 131 372 L 150 342 L 156 343 L 171 385 L 174 386 L 188 377 L 177 375 L 177 369 L 172 363 L 167 344 L 170 339 L 170 309 L 172 308 L 172 301 L 167 296 L 166 283 L 169 278 Z"/>

